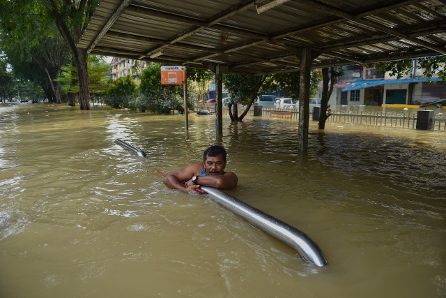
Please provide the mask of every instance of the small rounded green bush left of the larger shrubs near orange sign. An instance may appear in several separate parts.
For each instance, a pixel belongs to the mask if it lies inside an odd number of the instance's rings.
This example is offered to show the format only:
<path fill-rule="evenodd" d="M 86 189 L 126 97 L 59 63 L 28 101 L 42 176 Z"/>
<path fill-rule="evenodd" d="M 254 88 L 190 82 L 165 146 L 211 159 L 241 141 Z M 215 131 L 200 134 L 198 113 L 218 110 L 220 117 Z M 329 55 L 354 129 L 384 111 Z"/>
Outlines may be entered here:
<path fill-rule="evenodd" d="M 110 79 L 104 102 L 115 109 L 129 107 L 137 95 L 137 91 L 138 85 L 130 75 L 119 77 L 116 81 Z"/>

